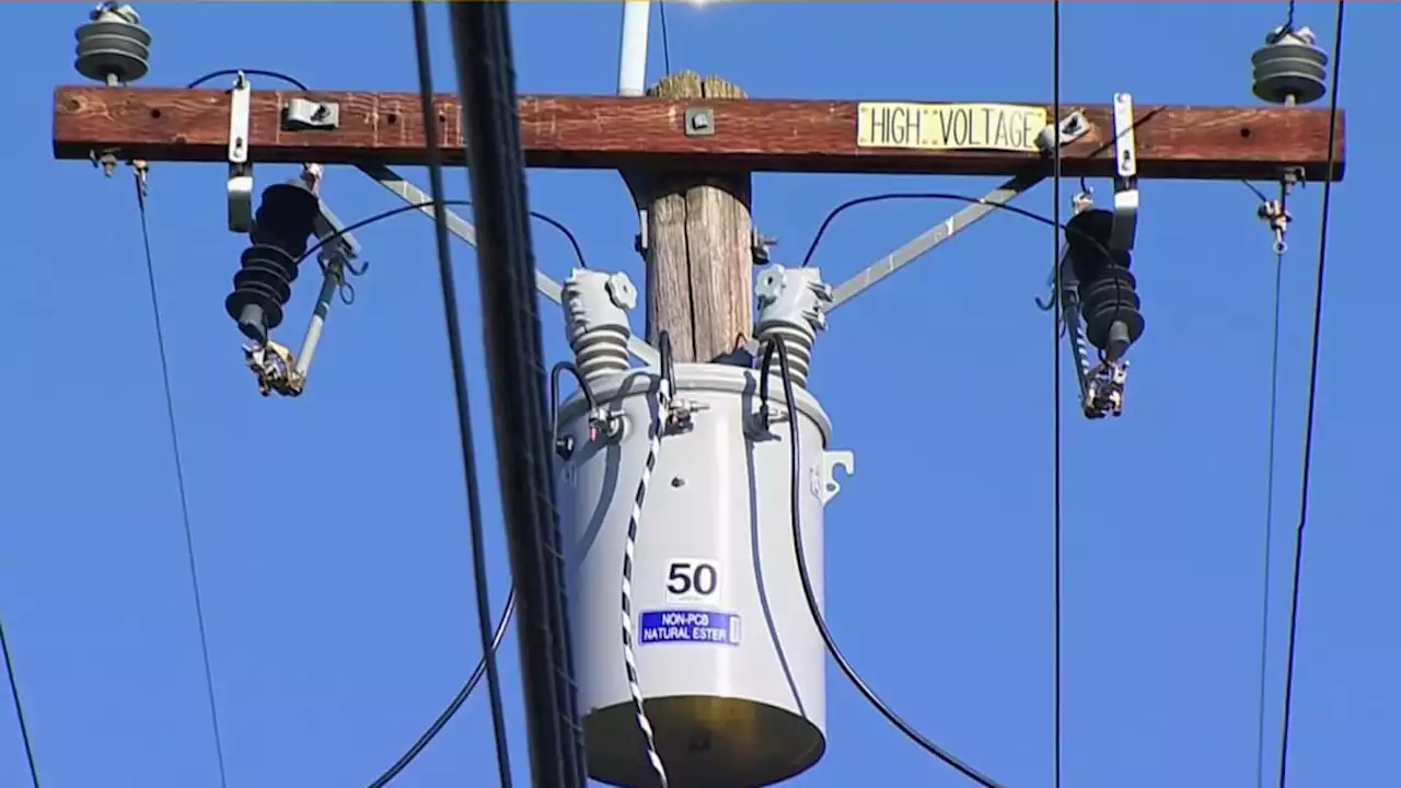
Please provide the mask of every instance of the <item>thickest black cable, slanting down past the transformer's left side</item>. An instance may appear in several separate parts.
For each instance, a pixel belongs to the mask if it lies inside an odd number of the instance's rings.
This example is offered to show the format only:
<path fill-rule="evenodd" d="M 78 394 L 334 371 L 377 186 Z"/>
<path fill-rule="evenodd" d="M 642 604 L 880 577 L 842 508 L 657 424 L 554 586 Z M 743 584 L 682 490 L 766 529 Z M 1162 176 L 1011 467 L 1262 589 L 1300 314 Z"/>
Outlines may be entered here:
<path fill-rule="evenodd" d="M 482 324 L 492 379 L 497 477 L 520 606 L 521 674 L 535 788 L 583 788 L 565 547 L 535 297 L 535 259 L 511 55 L 509 6 L 453 3 L 462 139 L 478 220 Z"/>

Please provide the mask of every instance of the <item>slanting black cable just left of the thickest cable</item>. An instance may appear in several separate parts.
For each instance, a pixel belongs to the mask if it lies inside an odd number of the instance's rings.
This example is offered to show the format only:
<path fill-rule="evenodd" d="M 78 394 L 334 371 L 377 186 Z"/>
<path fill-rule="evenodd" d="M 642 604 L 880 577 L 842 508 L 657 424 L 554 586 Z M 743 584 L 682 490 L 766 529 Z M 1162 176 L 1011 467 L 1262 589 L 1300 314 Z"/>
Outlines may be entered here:
<path fill-rule="evenodd" d="M 472 442 L 472 408 L 468 402 L 467 362 L 462 353 L 462 324 L 457 311 L 457 283 L 448 247 L 447 213 L 443 206 L 443 151 L 439 150 L 437 109 L 433 107 L 433 63 L 429 56 L 429 22 L 423 0 L 410 3 L 413 14 L 413 50 L 419 69 L 419 98 L 423 102 L 423 136 L 427 140 L 429 189 L 433 196 L 433 230 L 437 241 L 439 282 L 443 290 L 443 320 L 447 327 L 448 356 L 453 366 L 453 398 L 457 405 L 457 430 L 467 484 L 468 531 L 472 541 L 472 586 L 476 597 L 476 625 L 486 666 L 486 695 L 492 707 L 492 735 L 496 739 L 496 766 L 502 788 L 511 785 L 511 753 L 506 736 L 506 704 L 502 679 L 492 645 L 490 589 L 486 583 L 486 533 L 482 527 L 482 496 L 476 481 L 476 449 Z"/>

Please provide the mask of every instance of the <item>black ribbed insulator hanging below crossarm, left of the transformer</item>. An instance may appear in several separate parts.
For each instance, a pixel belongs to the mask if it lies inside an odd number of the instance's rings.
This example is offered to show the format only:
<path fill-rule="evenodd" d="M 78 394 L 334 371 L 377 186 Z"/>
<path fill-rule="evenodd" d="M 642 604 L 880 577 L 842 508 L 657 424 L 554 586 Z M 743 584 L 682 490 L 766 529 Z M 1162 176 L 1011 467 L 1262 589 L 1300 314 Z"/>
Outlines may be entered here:
<path fill-rule="evenodd" d="M 266 342 L 268 332 L 282 325 L 282 307 L 291 299 L 297 264 L 307 254 L 319 213 L 321 201 L 298 184 L 263 191 L 248 234 L 252 245 L 240 257 L 234 292 L 224 299 L 228 317 L 254 342 Z"/>

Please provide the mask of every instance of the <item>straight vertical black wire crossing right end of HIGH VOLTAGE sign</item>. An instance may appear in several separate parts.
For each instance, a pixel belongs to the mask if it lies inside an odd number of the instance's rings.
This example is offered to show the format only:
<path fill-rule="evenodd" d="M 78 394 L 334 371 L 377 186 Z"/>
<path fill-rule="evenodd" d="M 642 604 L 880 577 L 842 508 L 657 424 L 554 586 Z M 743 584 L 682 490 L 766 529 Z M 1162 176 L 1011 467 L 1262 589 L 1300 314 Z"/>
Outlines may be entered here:
<path fill-rule="evenodd" d="M 1051 0 L 1051 422 L 1052 422 L 1052 524 L 1051 524 L 1051 785 L 1061 788 L 1061 0 Z"/>

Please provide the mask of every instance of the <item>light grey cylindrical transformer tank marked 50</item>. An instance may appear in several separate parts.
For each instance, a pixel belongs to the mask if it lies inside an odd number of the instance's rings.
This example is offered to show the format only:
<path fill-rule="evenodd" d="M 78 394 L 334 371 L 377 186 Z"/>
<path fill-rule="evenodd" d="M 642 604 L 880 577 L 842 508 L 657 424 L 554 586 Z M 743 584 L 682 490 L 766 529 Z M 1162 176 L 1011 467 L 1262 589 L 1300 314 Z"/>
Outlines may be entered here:
<path fill-rule="evenodd" d="M 793 550 L 789 414 L 775 373 L 769 429 L 758 426 L 755 370 L 677 365 L 674 404 L 689 426 L 664 432 L 636 533 L 632 627 L 637 679 L 657 750 L 678 787 L 778 782 L 825 749 L 825 649 Z M 558 461 L 569 554 L 572 637 L 588 771 L 650 788 L 622 638 L 628 523 L 657 418 L 654 369 L 594 381 L 623 419 L 622 437 L 588 442 L 580 397 L 560 411 L 577 450 Z M 800 425 L 800 520 L 808 573 L 822 599 L 822 506 L 838 491 L 831 423 L 794 390 Z"/>

